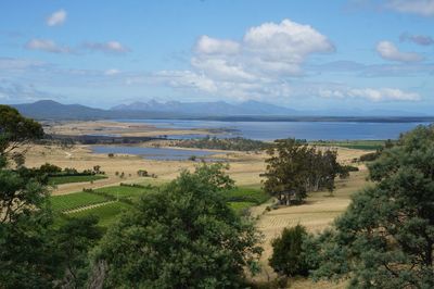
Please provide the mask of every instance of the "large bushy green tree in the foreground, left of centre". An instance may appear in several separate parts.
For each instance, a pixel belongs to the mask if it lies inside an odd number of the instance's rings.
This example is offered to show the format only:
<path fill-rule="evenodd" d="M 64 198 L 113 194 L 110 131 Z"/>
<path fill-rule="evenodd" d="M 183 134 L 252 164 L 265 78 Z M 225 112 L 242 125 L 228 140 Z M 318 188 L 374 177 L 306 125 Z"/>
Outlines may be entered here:
<path fill-rule="evenodd" d="M 232 181 L 222 165 L 187 171 L 145 194 L 95 251 L 107 287 L 238 288 L 261 249 L 253 224 L 225 202 Z M 103 275 L 103 274 L 102 274 Z"/>

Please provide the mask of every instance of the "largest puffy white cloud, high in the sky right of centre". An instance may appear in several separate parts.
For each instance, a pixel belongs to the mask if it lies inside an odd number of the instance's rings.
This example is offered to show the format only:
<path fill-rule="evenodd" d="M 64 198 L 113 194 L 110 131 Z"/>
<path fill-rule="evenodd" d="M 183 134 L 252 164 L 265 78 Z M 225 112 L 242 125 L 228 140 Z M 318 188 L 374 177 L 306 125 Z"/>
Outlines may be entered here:
<path fill-rule="evenodd" d="M 202 36 L 191 64 L 213 79 L 257 81 L 299 75 L 309 55 L 332 51 L 331 41 L 311 26 L 283 20 L 251 27 L 238 41 Z"/>

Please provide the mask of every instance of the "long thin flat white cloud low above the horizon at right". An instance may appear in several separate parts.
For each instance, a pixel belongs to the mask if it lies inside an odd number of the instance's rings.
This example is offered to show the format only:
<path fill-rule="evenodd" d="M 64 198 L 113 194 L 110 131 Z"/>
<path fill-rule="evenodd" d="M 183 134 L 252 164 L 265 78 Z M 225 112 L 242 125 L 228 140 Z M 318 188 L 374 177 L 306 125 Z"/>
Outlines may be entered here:
<path fill-rule="evenodd" d="M 323 98 L 362 98 L 373 102 L 380 101 L 418 101 L 420 96 L 397 88 L 345 88 L 320 89 L 318 95 Z"/>

